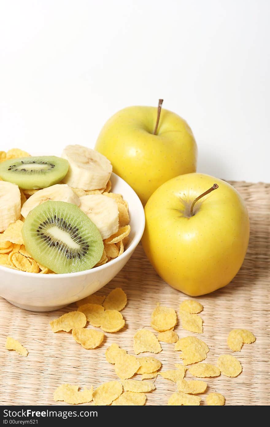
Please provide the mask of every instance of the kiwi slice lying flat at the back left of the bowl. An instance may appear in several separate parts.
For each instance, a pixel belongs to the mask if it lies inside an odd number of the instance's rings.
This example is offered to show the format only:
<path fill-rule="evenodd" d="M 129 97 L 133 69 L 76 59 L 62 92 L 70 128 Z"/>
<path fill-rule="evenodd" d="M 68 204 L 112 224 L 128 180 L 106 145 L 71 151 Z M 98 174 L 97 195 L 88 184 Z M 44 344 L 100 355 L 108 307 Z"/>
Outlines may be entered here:
<path fill-rule="evenodd" d="M 21 157 L 0 163 L 0 178 L 24 190 L 45 188 L 61 181 L 68 167 L 68 161 L 61 157 Z"/>

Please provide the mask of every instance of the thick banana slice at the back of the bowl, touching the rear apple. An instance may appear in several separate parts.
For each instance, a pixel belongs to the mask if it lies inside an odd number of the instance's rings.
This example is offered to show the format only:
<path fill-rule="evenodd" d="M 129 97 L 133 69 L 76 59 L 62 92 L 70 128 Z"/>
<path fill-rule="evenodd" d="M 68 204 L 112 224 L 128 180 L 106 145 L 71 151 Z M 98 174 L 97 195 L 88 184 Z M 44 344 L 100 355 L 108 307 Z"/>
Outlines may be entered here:
<path fill-rule="evenodd" d="M 70 164 L 63 179 L 65 184 L 82 190 L 99 190 L 106 187 L 113 167 L 104 155 L 81 145 L 68 145 L 62 157 Z"/>

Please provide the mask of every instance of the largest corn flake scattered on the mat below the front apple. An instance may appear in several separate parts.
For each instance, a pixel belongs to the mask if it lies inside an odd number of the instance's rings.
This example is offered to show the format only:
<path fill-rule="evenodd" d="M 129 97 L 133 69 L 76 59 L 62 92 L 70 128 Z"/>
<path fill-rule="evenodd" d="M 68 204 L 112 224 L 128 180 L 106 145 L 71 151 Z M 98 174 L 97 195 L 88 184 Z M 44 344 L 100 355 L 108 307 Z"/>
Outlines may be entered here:
<path fill-rule="evenodd" d="M 205 342 L 195 336 L 180 338 L 174 345 L 175 351 L 182 351 L 180 358 L 184 365 L 201 362 L 206 359 L 209 348 Z"/>

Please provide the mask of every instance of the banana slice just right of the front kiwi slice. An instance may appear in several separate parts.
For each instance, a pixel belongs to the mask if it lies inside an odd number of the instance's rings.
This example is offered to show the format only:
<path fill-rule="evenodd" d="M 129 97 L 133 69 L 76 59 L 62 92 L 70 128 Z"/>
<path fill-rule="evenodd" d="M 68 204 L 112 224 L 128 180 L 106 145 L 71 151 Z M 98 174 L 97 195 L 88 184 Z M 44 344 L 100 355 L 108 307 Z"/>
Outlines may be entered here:
<path fill-rule="evenodd" d="M 97 226 L 102 239 L 107 239 L 118 231 L 118 205 L 115 200 L 102 194 L 80 197 L 80 208 Z"/>

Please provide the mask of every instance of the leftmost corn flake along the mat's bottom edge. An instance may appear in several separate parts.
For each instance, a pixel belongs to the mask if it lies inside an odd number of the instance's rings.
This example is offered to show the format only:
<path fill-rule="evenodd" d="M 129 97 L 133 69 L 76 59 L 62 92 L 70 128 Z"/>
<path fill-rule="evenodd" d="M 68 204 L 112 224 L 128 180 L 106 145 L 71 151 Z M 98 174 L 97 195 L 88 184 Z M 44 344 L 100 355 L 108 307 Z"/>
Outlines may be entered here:
<path fill-rule="evenodd" d="M 78 405 L 81 403 L 89 403 L 93 399 L 93 386 L 90 389 L 83 389 L 78 391 L 79 386 L 72 386 L 70 384 L 62 384 L 57 387 L 53 393 L 53 400 L 64 401 L 68 404 Z"/>

